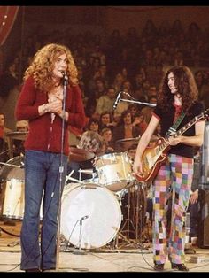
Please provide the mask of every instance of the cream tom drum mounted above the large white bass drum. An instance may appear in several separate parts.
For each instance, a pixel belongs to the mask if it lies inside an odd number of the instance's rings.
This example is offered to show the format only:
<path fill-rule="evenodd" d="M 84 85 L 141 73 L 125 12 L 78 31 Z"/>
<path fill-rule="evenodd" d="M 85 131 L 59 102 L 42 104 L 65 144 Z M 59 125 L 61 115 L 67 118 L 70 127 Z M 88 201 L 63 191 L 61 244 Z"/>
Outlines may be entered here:
<path fill-rule="evenodd" d="M 119 191 L 133 181 L 132 166 L 126 152 L 104 154 L 96 161 L 99 184 Z"/>

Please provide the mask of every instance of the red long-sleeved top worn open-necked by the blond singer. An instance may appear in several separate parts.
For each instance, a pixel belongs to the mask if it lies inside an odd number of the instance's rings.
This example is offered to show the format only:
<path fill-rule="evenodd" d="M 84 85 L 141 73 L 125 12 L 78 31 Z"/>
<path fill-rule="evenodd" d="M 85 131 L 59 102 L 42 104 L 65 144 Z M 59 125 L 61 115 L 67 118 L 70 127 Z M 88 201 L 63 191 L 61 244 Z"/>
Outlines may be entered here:
<path fill-rule="evenodd" d="M 17 120 L 29 120 L 29 133 L 24 144 L 25 150 L 49 151 L 60 153 L 62 119 L 56 115 L 51 123 L 50 112 L 39 115 L 38 106 L 48 103 L 47 94 L 35 88 L 32 77 L 25 81 L 16 105 Z M 85 126 L 85 112 L 81 98 L 81 89 L 74 86 L 66 89 L 66 111 L 69 112 L 68 122 L 65 124 L 64 154 L 69 154 L 69 139 L 67 126 Z"/>

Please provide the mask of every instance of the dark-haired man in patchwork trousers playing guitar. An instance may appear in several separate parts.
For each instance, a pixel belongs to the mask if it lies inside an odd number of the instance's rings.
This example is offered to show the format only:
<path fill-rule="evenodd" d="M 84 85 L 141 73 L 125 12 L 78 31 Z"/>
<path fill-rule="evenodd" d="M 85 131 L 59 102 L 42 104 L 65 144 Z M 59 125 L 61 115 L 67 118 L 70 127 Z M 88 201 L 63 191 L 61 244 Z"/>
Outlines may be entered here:
<path fill-rule="evenodd" d="M 174 125 L 182 112 L 185 113 L 179 128 L 203 112 L 203 105 L 197 102 L 197 85 L 190 69 L 186 66 L 170 68 L 159 89 L 158 104 L 151 121 L 143 133 L 135 155 L 133 171 L 143 174 L 143 151 L 145 151 L 156 127 L 161 126 L 162 136 Z M 159 166 L 153 183 L 153 260 L 154 269 L 163 271 L 166 259 L 171 268 L 189 271 L 183 264 L 185 228 L 184 220 L 190 200 L 193 177 L 193 149 L 204 140 L 205 121 L 197 122 L 183 135 L 169 135 L 166 140 L 169 150 L 166 160 Z M 166 235 L 166 202 L 169 188 L 172 188 L 172 220 L 169 235 Z"/>

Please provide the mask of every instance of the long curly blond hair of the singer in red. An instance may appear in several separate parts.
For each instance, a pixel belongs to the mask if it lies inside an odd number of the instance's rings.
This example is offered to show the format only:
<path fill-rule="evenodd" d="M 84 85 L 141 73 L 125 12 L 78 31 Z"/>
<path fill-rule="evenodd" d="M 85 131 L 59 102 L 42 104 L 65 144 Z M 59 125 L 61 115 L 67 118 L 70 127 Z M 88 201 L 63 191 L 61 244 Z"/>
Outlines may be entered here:
<path fill-rule="evenodd" d="M 37 89 L 49 92 L 54 86 L 54 81 L 52 79 L 54 64 L 58 56 L 64 53 L 67 58 L 66 74 L 69 80 L 68 86 L 76 85 L 78 83 L 78 71 L 74 64 L 71 51 L 66 46 L 56 43 L 47 44 L 36 52 L 31 65 L 27 67 L 23 79 L 27 80 L 29 76 L 32 76 Z"/>

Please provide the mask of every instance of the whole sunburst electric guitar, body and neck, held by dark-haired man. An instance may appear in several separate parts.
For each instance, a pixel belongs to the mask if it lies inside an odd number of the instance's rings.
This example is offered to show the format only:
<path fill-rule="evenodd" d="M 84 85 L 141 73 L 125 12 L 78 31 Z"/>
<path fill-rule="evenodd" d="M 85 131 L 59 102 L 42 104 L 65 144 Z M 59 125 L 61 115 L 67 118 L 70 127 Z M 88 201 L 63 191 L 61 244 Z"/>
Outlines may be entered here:
<path fill-rule="evenodd" d="M 187 123 L 184 127 L 179 129 L 171 135 L 173 137 L 177 137 L 182 135 L 186 130 L 192 127 L 198 120 L 205 120 L 209 116 L 209 108 L 202 112 L 189 123 Z M 167 157 L 167 152 L 170 149 L 170 145 L 168 143 L 168 137 L 160 137 L 158 141 L 152 147 L 147 147 L 145 151 L 143 151 L 142 163 L 143 163 L 143 174 L 134 173 L 135 179 L 139 182 L 151 181 L 154 179 L 156 174 L 159 171 L 159 166 L 165 161 Z"/>

